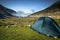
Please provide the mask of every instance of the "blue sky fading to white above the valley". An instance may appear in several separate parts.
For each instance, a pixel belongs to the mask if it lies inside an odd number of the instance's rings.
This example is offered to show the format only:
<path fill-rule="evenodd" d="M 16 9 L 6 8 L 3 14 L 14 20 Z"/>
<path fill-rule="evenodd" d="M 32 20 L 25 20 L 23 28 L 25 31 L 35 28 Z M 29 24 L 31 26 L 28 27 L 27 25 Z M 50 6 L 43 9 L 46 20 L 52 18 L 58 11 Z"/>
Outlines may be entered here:
<path fill-rule="evenodd" d="M 25 13 L 43 10 L 54 2 L 56 2 L 56 0 L 0 0 L 0 4 L 5 7 Z"/>

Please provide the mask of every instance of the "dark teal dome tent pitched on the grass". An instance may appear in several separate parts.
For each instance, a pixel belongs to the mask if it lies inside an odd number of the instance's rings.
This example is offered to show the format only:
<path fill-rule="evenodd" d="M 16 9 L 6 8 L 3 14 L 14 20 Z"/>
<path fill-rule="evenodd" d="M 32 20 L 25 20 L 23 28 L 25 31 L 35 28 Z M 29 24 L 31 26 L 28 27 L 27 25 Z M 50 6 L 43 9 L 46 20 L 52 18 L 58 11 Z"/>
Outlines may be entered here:
<path fill-rule="evenodd" d="M 47 36 L 60 37 L 59 25 L 50 17 L 41 17 L 31 26 L 33 30 Z"/>

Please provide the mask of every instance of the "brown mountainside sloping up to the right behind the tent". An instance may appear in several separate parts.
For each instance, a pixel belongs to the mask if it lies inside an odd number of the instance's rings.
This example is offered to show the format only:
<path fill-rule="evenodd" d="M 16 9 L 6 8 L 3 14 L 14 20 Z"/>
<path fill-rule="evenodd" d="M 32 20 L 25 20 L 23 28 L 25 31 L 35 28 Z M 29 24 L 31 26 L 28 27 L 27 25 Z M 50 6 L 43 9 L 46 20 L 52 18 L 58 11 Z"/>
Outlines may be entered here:
<path fill-rule="evenodd" d="M 52 18 L 60 18 L 60 1 L 55 2 L 54 4 L 52 4 L 51 6 L 49 6 L 48 8 L 33 13 L 31 15 L 29 15 L 29 17 L 41 17 L 41 16 L 50 16 Z"/>

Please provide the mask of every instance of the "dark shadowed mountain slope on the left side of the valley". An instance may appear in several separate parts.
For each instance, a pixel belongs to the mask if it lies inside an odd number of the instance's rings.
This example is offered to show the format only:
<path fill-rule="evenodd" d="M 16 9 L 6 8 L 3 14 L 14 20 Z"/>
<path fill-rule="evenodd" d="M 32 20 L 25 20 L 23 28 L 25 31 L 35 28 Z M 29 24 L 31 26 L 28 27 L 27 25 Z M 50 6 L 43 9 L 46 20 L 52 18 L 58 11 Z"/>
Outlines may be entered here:
<path fill-rule="evenodd" d="M 0 19 L 13 17 L 13 13 L 16 13 L 16 11 L 8 9 L 0 4 Z"/>

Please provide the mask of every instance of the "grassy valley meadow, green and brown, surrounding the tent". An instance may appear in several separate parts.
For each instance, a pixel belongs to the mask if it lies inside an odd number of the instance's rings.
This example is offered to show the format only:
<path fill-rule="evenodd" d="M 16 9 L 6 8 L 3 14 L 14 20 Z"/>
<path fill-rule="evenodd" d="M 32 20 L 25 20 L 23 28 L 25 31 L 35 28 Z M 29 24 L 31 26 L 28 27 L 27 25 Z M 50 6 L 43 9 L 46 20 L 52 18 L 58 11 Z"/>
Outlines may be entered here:
<path fill-rule="evenodd" d="M 0 40 L 60 40 L 30 29 L 37 18 L 8 18 L 0 20 Z M 60 19 L 55 19 L 60 25 Z"/>

